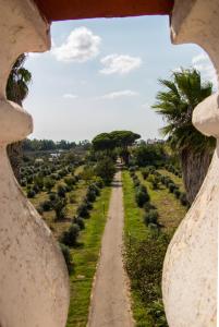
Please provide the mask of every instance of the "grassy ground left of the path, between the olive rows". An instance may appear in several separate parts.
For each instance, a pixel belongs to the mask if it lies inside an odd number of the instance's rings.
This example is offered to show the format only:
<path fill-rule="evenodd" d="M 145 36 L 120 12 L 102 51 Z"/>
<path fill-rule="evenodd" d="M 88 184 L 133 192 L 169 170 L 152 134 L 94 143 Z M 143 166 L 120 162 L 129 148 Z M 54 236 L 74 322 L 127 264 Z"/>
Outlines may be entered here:
<path fill-rule="evenodd" d="M 78 167 L 75 173 L 77 174 L 82 170 L 83 167 Z M 66 177 L 70 177 L 70 174 Z M 63 179 L 59 180 L 52 187 L 52 192 L 56 192 L 58 184 L 63 182 Z M 64 219 L 56 220 L 56 213 L 53 210 L 42 213 L 42 219 L 52 230 L 57 240 L 59 240 L 64 231 L 69 230 L 72 218 L 75 216 L 80 203 L 85 197 L 87 187 L 87 183 L 80 180 L 74 190 L 66 193 L 66 198 L 73 195 L 74 202 L 70 203 L 68 201 L 66 217 Z M 26 193 L 26 189 L 23 187 L 23 190 Z M 100 195 L 93 204 L 93 209 L 89 211 L 89 218 L 84 219 L 85 229 L 80 232 L 77 245 L 70 247 L 73 271 L 70 274 L 70 308 L 66 327 L 85 327 L 87 324 L 90 291 L 99 257 L 101 237 L 107 220 L 110 194 L 111 187 L 108 186 L 101 190 Z M 45 191 L 29 198 L 36 208 L 46 199 L 49 199 L 49 195 Z"/>

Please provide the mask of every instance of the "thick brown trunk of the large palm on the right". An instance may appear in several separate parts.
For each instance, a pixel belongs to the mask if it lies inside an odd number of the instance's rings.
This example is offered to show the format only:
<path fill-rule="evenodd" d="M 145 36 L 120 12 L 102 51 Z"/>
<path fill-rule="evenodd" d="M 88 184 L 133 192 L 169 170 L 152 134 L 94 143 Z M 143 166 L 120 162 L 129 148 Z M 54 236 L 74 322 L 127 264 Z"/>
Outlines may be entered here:
<path fill-rule="evenodd" d="M 197 153 L 185 148 L 181 153 L 182 177 L 190 204 L 193 203 L 203 184 L 211 157 L 212 153 L 208 149 Z"/>

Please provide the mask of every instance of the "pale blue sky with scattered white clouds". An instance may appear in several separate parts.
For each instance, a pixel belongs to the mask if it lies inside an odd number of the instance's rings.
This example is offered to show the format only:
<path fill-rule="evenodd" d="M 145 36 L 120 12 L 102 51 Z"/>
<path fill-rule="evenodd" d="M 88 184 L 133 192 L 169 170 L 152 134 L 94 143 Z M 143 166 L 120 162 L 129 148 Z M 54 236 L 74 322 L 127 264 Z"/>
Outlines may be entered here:
<path fill-rule="evenodd" d="M 195 66 L 216 85 L 198 46 L 171 45 L 168 16 L 53 23 L 51 40 L 50 51 L 29 53 L 25 63 L 33 75 L 24 101 L 32 138 L 78 142 L 113 130 L 160 138 L 165 122 L 150 108 L 158 78 Z"/>

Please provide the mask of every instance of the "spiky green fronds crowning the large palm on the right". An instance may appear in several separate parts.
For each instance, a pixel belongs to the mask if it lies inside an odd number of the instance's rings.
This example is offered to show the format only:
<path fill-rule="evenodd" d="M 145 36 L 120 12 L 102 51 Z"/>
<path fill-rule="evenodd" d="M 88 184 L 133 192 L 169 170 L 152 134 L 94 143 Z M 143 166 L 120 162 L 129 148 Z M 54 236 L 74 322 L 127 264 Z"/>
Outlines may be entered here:
<path fill-rule="evenodd" d="M 185 147 L 200 150 L 211 146 L 212 138 L 204 136 L 192 124 L 192 113 L 199 102 L 212 94 L 212 84 L 202 83 L 200 73 L 195 69 L 181 69 L 172 73 L 170 81 L 159 82 L 166 90 L 157 94 L 153 108 L 168 122 L 162 133 L 169 136 L 171 146 L 179 150 Z"/>

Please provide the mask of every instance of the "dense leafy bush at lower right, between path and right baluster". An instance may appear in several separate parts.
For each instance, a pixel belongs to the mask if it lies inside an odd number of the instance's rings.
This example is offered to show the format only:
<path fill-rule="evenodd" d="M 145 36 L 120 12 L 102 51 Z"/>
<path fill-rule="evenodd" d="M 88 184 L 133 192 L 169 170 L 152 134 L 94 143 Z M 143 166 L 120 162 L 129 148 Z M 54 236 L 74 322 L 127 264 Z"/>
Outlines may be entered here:
<path fill-rule="evenodd" d="M 154 319 L 153 326 L 167 326 L 165 312 L 155 301 L 161 303 L 161 275 L 162 263 L 169 237 L 167 234 L 148 234 L 145 240 L 131 240 L 126 244 L 125 265 L 131 278 L 132 289 L 139 293 L 141 299 L 147 303 L 148 311 Z M 158 314 L 158 316 L 157 316 Z M 160 322 L 163 325 L 158 325 Z"/>

